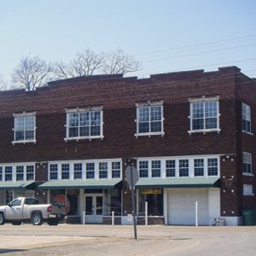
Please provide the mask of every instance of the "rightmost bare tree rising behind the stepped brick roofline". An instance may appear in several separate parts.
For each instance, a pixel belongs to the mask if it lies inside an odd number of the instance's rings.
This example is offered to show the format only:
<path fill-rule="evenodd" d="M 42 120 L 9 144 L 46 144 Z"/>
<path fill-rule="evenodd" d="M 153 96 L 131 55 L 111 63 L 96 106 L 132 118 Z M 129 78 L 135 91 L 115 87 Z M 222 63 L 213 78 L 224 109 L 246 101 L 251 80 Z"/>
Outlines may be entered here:
<path fill-rule="evenodd" d="M 136 61 L 131 55 L 125 54 L 123 49 L 116 49 L 108 53 L 105 60 L 102 72 L 106 74 L 131 73 L 142 67 L 141 62 Z"/>

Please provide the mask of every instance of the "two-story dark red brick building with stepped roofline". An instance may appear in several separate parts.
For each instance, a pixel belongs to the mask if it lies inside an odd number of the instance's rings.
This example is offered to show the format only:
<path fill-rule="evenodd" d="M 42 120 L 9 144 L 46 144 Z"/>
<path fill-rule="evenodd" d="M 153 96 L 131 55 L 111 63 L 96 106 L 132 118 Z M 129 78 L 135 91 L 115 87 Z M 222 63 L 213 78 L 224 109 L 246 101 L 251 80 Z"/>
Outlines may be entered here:
<path fill-rule="evenodd" d="M 149 223 L 195 224 L 195 201 L 202 225 L 256 208 L 256 82 L 238 67 L 1 91 L 0 119 L 0 204 L 32 195 L 70 221 L 126 224 L 132 164 L 138 222 L 145 201 Z"/>

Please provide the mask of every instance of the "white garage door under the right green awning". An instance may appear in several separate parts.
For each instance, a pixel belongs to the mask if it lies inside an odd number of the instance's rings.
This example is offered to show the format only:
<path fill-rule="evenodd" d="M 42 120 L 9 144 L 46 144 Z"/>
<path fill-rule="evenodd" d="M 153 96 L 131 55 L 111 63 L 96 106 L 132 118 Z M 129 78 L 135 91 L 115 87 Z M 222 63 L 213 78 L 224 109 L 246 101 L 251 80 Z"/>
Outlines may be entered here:
<path fill-rule="evenodd" d="M 198 224 L 209 224 L 208 189 L 168 189 L 168 224 L 195 224 L 195 201 L 198 201 Z"/>

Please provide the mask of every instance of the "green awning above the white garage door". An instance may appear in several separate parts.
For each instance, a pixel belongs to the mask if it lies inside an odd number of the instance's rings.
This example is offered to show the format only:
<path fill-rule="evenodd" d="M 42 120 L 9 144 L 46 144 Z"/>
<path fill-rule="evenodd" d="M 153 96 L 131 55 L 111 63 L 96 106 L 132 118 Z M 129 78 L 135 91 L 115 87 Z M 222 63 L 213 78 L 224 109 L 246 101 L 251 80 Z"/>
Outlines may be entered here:
<path fill-rule="evenodd" d="M 141 178 L 135 185 L 143 188 L 214 188 L 219 187 L 219 177 Z"/>

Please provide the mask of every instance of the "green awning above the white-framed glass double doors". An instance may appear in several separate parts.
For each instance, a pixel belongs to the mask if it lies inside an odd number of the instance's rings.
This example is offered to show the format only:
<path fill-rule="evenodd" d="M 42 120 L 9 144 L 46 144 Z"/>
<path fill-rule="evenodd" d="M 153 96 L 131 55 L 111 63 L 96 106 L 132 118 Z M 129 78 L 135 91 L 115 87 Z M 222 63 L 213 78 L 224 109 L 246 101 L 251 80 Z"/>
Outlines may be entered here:
<path fill-rule="evenodd" d="M 121 179 L 57 180 L 39 185 L 40 189 L 113 189 Z"/>

